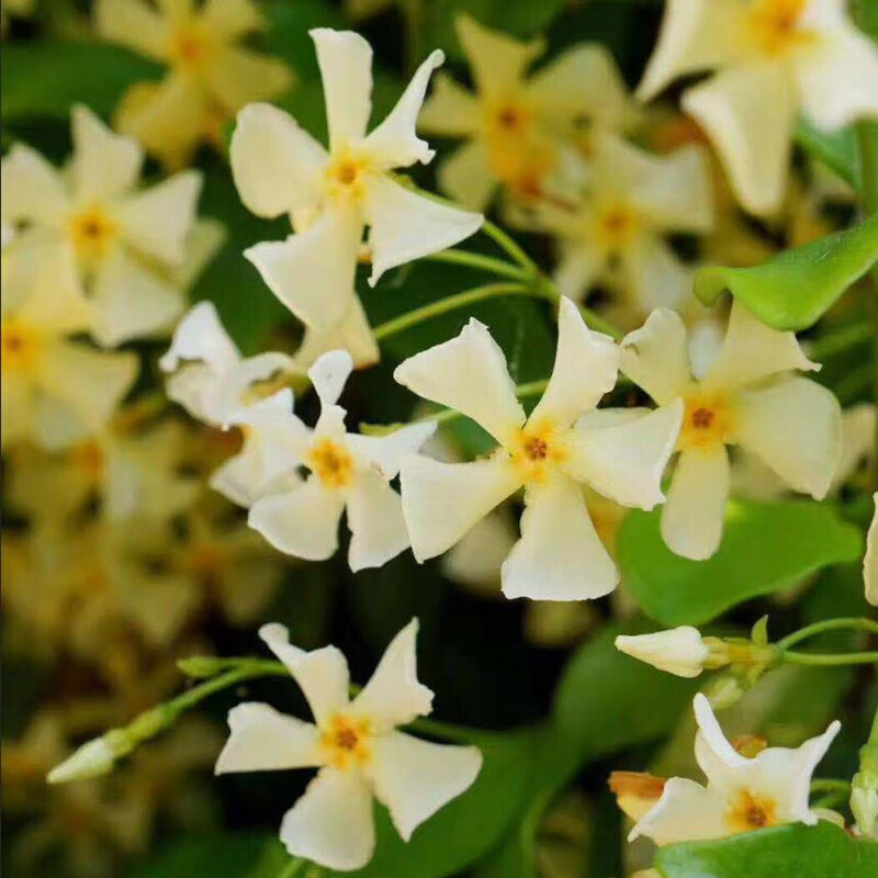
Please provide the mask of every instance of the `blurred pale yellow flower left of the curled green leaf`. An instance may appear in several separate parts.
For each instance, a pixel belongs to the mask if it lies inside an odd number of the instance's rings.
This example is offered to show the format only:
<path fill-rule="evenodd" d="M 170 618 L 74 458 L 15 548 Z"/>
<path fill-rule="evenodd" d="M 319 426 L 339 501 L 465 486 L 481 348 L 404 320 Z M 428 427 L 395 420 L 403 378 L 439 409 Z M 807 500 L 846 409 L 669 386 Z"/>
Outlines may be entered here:
<path fill-rule="evenodd" d="M 666 238 L 710 230 L 711 188 L 698 146 L 653 156 L 614 135 L 596 135 L 579 194 L 538 201 L 531 218 L 556 239 L 555 281 L 565 295 L 582 301 L 595 285 L 606 285 L 639 323 L 656 307 L 676 308 L 691 293 L 691 269 Z M 562 192 L 570 190 L 565 184 Z"/>

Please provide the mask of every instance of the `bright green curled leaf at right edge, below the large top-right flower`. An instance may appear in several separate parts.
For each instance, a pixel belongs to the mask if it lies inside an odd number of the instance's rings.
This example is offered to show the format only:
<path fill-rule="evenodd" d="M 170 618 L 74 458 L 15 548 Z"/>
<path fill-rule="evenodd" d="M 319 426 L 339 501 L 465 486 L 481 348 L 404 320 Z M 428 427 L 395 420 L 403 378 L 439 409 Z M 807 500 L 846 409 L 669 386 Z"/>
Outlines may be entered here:
<path fill-rule="evenodd" d="M 725 291 L 775 329 L 807 329 L 878 260 L 878 215 L 752 268 L 708 266 L 695 294 L 712 305 Z"/>

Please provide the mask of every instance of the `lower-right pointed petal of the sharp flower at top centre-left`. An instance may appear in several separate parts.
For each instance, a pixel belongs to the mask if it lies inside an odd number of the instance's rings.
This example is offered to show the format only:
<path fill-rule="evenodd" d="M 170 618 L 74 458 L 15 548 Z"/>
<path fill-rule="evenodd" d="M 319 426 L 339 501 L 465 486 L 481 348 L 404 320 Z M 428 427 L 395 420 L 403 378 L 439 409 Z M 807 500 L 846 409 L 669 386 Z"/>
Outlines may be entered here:
<path fill-rule="evenodd" d="M 432 201 L 384 176 L 369 181 L 364 211 L 370 225 L 372 286 L 387 269 L 460 244 L 484 221 L 481 214 Z"/>

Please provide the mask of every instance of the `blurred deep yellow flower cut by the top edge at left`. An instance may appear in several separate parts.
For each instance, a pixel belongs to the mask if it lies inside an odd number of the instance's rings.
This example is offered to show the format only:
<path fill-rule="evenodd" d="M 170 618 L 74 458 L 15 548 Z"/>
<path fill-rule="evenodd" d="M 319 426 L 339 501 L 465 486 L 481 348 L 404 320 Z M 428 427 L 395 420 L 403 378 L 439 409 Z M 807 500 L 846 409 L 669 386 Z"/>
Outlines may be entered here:
<path fill-rule="evenodd" d="M 241 45 L 262 29 L 251 0 L 99 0 L 98 33 L 168 67 L 160 82 L 137 82 L 122 99 L 116 125 L 170 168 L 200 144 L 222 148 L 223 127 L 251 101 L 282 94 L 292 70 Z"/>

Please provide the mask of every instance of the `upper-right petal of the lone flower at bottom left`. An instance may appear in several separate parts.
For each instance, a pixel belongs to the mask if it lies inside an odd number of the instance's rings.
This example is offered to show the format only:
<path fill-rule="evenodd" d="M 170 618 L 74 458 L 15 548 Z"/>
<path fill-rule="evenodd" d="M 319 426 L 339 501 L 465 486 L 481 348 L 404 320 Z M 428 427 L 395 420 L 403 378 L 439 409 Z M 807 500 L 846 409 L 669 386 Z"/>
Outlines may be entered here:
<path fill-rule="evenodd" d="M 418 620 L 413 619 L 391 641 L 378 667 L 351 703 L 351 710 L 367 717 L 384 732 L 405 725 L 432 709 L 432 690 L 418 682 Z"/>

